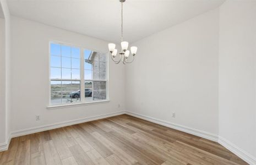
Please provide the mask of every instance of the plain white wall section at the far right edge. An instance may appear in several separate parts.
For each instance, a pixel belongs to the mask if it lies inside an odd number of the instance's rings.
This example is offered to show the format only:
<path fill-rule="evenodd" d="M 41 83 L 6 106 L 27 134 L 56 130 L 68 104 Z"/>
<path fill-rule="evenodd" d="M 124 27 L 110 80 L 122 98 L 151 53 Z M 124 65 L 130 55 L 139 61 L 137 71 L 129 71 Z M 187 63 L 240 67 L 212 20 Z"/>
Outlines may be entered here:
<path fill-rule="evenodd" d="M 256 2 L 220 7 L 219 135 L 256 157 Z"/>

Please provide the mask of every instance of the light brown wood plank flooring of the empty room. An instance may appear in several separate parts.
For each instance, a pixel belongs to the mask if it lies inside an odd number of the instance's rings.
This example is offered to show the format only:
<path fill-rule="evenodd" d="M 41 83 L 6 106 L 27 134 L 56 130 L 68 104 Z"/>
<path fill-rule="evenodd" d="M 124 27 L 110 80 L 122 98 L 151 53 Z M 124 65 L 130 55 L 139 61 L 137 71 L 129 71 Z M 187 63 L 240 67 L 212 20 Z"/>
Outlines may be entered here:
<path fill-rule="evenodd" d="M 217 142 L 123 114 L 10 142 L 0 164 L 247 164 Z"/>

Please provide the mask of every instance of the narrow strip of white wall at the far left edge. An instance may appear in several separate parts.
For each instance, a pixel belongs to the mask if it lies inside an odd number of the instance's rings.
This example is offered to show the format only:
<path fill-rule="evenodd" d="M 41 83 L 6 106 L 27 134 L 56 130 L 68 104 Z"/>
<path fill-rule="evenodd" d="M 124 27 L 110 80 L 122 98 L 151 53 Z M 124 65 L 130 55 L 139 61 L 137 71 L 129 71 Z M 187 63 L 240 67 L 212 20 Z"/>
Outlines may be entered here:
<path fill-rule="evenodd" d="M 6 146 L 6 141 L 9 139 L 10 132 L 10 102 L 9 98 L 9 78 L 10 78 L 10 13 L 6 0 L 0 0 L 0 56 L 1 56 L 1 71 L 0 71 L 0 149 Z M 4 144 L 4 145 L 3 145 Z"/>

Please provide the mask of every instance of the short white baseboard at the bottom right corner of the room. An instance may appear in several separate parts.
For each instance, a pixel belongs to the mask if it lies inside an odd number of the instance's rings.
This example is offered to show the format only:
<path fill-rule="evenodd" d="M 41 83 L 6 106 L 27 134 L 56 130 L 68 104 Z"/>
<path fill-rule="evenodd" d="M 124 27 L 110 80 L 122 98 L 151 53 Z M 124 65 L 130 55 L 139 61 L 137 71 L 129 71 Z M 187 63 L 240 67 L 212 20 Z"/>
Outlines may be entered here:
<path fill-rule="evenodd" d="M 256 158 L 247 153 L 246 151 L 240 149 L 238 146 L 233 144 L 232 142 L 226 140 L 225 138 L 222 138 L 219 136 L 218 140 L 219 144 L 224 146 L 226 149 L 230 150 L 231 152 L 235 153 L 238 157 L 240 157 L 242 160 L 246 161 L 247 163 L 251 165 L 256 165 Z"/>

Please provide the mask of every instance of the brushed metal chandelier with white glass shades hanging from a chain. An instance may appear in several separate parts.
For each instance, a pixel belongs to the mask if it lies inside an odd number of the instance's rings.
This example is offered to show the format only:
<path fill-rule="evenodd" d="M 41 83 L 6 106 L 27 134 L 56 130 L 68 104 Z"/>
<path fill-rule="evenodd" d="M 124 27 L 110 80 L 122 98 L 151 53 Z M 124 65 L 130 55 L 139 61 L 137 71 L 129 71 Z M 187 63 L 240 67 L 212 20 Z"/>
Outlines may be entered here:
<path fill-rule="evenodd" d="M 121 60 L 122 60 L 123 64 L 127 64 L 127 63 L 132 63 L 133 62 L 134 56 L 137 53 L 137 47 L 132 46 L 132 47 L 130 47 L 130 51 L 129 51 L 128 50 L 129 43 L 127 41 L 123 41 L 123 2 L 126 2 L 126 0 L 119 0 L 119 2 L 121 2 L 121 4 L 122 4 L 122 10 L 121 10 L 121 20 L 122 20 L 121 21 L 121 47 L 122 47 L 122 50 L 121 50 L 121 52 L 119 52 L 119 59 L 115 60 L 116 55 L 117 55 L 117 49 L 116 49 L 116 44 L 115 43 L 108 43 L 108 50 L 111 53 L 111 59 L 116 64 L 121 62 Z M 128 57 L 129 57 L 130 53 L 132 54 L 133 59 L 132 59 L 132 61 L 129 62 Z"/>

